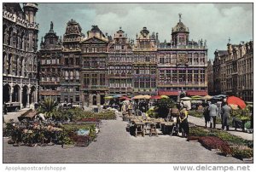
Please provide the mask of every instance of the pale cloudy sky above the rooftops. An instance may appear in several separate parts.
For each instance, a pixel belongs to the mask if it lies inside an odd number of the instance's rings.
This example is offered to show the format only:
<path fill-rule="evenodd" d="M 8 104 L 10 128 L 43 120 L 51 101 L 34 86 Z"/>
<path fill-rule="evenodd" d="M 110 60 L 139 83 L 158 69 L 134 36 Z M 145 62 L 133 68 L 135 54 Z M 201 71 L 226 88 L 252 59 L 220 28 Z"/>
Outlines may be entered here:
<path fill-rule="evenodd" d="M 253 3 L 38 3 L 38 42 L 49 32 L 50 21 L 63 37 L 71 19 L 79 22 L 85 35 L 92 25 L 108 35 L 121 26 L 135 39 L 146 26 L 150 33 L 159 32 L 160 42 L 170 42 L 179 13 L 190 40 L 207 40 L 208 58 L 214 57 L 215 49 L 226 50 L 229 37 L 235 44 L 253 39 Z"/>

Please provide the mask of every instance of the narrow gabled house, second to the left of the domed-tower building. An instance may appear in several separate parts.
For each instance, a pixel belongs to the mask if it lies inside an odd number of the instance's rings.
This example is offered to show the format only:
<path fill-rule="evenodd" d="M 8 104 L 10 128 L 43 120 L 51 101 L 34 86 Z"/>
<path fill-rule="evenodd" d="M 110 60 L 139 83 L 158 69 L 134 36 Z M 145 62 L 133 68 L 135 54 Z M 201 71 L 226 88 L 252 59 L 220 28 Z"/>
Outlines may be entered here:
<path fill-rule="evenodd" d="M 109 95 L 132 95 L 132 45 L 125 32 L 119 28 L 109 37 L 108 85 Z"/>

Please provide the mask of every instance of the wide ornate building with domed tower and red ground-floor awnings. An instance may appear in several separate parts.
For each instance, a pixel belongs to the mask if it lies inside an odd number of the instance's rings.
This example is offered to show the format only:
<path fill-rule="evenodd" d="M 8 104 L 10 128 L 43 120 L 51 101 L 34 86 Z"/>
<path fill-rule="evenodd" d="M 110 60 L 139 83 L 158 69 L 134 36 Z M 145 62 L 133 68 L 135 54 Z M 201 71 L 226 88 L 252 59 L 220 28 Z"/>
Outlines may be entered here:
<path fill-rule="evenodd" d="M 190 41 L 179 15 L 171 43 L 160 43 L 157 50 L 159 95 L 207 95 L 207 43 Z"/>

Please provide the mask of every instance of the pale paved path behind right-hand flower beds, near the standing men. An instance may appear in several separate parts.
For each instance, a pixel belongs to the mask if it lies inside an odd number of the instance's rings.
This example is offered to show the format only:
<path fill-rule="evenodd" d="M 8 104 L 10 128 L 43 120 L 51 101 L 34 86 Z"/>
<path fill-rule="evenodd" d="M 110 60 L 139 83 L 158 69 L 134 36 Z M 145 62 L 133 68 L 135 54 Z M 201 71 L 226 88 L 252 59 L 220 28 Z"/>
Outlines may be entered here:
<path fill-rule="evenodd" d="M 196 118 L 193 116 L 189 116 L 189 122 L 190 123 L 195 123 L 196 125 L 205 126 L 205 118 Z M 216 124 L 216 128 L 217 129 L 221 129 L 221 124 Z M 242 132 L 241 129 L 237 129 L 237 131 L 235 131 L 235 128 L 231 128 L 230 127 L 230 131 L 228 131 L 231 135 L 236 135 L 236 136 L 240 136 L 241 138 L 245 139 L 245 140 L 253 140 L 253 134 L 249 134 L 246 132 Z"/>

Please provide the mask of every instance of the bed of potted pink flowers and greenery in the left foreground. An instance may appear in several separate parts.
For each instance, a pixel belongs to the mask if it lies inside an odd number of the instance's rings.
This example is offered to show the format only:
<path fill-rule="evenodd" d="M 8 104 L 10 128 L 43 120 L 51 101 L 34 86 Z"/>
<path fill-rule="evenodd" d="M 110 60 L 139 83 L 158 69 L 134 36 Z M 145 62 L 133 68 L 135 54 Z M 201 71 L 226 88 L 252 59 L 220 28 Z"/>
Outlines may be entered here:
<path fill-rule="evenodd" d="M 49 146 L 54 144 L 89 146 L 96 140 L 96 124 L 61 124 L 13 121 L 6 123 L 6 134 L 14 146 Z M 81 131 L 87 130 L 87 133 Z M 80 131 L 80 132 L 79 132 Z"/>

